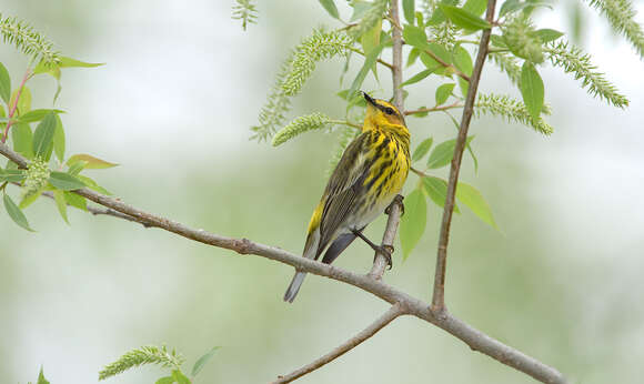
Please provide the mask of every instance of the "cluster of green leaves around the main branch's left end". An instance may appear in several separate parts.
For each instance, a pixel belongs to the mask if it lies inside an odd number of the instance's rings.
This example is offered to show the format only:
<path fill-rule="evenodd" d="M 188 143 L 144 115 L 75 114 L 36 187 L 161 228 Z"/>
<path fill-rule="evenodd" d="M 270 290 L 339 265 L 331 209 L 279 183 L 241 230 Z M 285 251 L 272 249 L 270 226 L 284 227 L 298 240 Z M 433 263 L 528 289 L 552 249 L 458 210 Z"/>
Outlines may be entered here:
<path fill-rule="evenodd" d="M 32 109 L 31 91 L 28 81 L 40 73 L 51 74 L 60 79 L 62 68 L 97 67 L 62 55 L 58 61 L 46 64 L 42 60 L 36 68 L 28 68 L 23 81 L 13 87 L 7 68 L 0 63 L 0 140 L 10 143 L 13 150 L 30 161 L 26 170 L 18 169 L 11 161 L 6 168 L 0 166 L 0 191 L 2 202 L 9 216 L 20 226 L 32 231 L 23 209 L 32 204 L 41 195 L 56 201 L 62 219 L 69 223 L 67 209 L 69 205 L 87 210 L 85 199 L 72 191 L 91 188 L 104 194 L 110 194 L 93 179 L 81 174 L 88 169 L 105 169 L 117 164 L 94 158 L 89 154 L 66 156 L 66 133 L 61 119 L 64 111 L 59 109 Z M 59 90 L 60 91 L 60 83 Z M 56 97 L 54 97 L 56 99 Z M 36 128 L 33 128 L 36 125 Z M 58 171 L 52 171 L 56 168 Z M 18 185 L 21 189 L 20 201 L 16 203 L 7 193 L 8 186 Z"/>

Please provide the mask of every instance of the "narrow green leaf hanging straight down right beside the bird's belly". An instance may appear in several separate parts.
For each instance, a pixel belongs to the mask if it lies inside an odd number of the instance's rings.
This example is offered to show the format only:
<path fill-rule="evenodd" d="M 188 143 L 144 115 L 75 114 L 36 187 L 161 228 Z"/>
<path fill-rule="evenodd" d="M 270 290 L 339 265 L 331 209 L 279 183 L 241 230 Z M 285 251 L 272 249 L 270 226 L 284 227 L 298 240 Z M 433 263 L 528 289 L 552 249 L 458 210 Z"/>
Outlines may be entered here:
<path fill-rule="evenodd" d="M 404 204 L 405 214 L 400 222 L 400 242 L 403 249 L 403 260 L 406 260 L 425 232 L 427 203 L 423 191 L 416 188 L 406 195 Z"/>

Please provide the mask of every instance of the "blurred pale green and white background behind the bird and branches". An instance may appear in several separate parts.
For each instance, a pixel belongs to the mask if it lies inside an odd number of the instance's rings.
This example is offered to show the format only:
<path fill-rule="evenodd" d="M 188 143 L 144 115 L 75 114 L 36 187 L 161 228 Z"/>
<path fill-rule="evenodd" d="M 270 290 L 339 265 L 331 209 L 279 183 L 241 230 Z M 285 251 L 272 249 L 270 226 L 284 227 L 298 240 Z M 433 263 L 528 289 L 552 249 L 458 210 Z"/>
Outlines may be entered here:
<path fill-rule="evenodd" d="M 344 7 L 344 2 L 340 1 Z M 195 228 L 299 252 L 325 183 L 334 135 L 309 133 L 279 149 L 249 141 L 249 127 L 288 50 L 330 18 L 316 1 L 259 3 L 243 32 L 232 1 L 4 0 L 64 54 L 105 62 L 67 70 L 58 103 L 68 153 L 121 166 L 94 171 L 119 198 Z M 640 12 L 644 11 L 642 4 Z M 341 10 L 346 10 L 342 8 Z M 570 4 L 540 17 L 570 31 Z M 295 17 L 296 16 L 296 17 Z M 475 327 L 564 372 L 575 383 L 640 383 L 644 376 L 644 64 L 606 22 L 584 10 L 581 44 L 631 99 L 618 110 L 590 98 L 559 69 L 542 70 L 553 105 L 550 138 L 497 119 L 475 120 L 480 169 L 462 180 L 493 208 L 502 233 L 463 209 L 453 223 L 446 297 Z M 640 21 L 644 19 L 640 16 Z M 26 60 L 0 46 L 18 82 Z M 319 65 L 293 115 L 342 115 L 340 62 Z M 353 69 L 355 70 L 355 69 Z M 416 70 L 407 70 L 406 78 Z M 353 72 L 354 73 L 354 72 Z M 365 87 L 389 97 L 388 75 Z M 351 79 L 350 79 L 351 80 Z M 407 105 L 432 104 L 436 83 L 410 87 Z M 34 105 L 56 85 L 33 81 Z M 482 89 L 516 90 L 494 65 Z M 409 119 L 413 142 L 453 137 L 440 117 Z M 444 174 L 439 172 L 439 174 Z M 410 176 L 407 189 L 416 179 Z M 37 233 L 0 215 L 0 382 L 92 383 L 130 348 L 162 344 L 188 357 L 222 348 L 195 383 L 266 383 L 366 326 L 388 305 L 351 286 L 309 276 L 293 305 L 281 300 L 292 269 L 175 235 L 54 205 L 27 210 Z M 441 211 L 404 263 L 385 280 L 429 300 Z M 369 234 L 380 238 L 384 220 Z M 338 264 L 366 271 L 356 242 Z M 150 383 L 157 367 L 111 383 Z M 302 383 L 531 383 L 471 352 L 443 331 L 400 319 Z"/>

